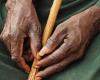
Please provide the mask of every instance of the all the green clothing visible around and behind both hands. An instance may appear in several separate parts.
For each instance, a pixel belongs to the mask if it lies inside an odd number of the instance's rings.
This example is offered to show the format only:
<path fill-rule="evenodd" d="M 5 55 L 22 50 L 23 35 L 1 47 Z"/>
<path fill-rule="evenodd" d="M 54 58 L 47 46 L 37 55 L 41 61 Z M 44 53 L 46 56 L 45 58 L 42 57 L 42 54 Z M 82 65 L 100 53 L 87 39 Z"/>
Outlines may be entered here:
<path fill-rule="evenodd" d="M 43 25 L 46 23 L 52 2 L 53 0 L 35 0 L 34 2 L 40 22 Z M 93 4 L 100 5 L 100 0 L 63 0 L 56 25 Z M 0 0 L 0 32 L 3 29 L 5 16 L 5 1 Z M 0 80 L 25 80 L 28 75 L 16 67 L 8 53 L 5 46 L 0 43 Z M 99 62 L 100 34 L 92 41 L 84 58 L 45 80 L 100 80 Z"/>

